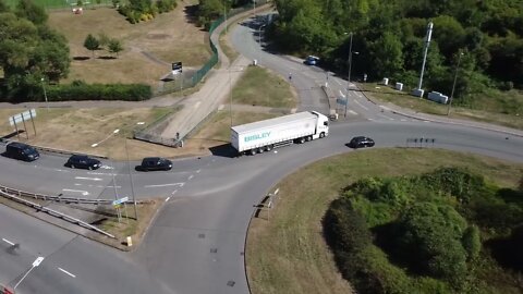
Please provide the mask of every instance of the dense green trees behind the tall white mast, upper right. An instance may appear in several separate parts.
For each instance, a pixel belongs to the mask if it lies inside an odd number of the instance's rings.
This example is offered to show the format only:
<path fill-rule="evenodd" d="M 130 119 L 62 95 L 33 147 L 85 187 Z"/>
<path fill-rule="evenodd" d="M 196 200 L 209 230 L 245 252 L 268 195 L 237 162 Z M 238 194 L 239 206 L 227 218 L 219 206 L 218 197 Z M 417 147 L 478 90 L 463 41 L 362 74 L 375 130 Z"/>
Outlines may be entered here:
<path fill-rule="evenodd" d="M 350 37 L 353 75 L 367 73 L 415 86 L 428 22 L 434 23 L 424 88 L 455 96 L 486 87 L 523 88 L 523 2 L 519 0 L 275 0 L 269 28 L 280 49 L 319 56 L 346 73 Z M 459 102 L 459 100 L 458 100 Z"/>

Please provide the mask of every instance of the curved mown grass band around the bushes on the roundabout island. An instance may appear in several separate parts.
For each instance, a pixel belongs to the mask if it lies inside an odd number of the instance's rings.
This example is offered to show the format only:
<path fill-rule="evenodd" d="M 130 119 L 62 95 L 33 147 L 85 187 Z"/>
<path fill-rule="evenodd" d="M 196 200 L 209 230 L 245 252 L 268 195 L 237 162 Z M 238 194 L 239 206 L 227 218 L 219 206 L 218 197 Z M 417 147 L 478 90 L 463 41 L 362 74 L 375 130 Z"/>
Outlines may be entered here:
<path fill-rule="evenodd" d="M 354 151 L 309 164 L 277 185 L 270 216 L 263 210 L 251 222 L 246 268 L 252 293 L 351 293 L 323 238 L 321 219 L 330 201 L 364 176 L 411 175 L 438 167 L 467 167 L 508 187 L 516 186 L 523 171 L 523 164 L 439 149 Z"/>

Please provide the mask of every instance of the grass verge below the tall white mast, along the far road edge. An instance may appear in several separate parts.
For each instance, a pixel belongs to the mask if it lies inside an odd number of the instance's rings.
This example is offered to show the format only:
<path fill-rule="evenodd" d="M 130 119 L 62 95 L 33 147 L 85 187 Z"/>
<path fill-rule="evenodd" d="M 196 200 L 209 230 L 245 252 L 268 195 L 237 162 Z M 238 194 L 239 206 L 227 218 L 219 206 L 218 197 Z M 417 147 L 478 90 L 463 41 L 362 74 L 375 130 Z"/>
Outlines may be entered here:
<path fill-rule="evenodd" d="M 398 91 L 389 86 L 375 83 L 362 83 L 358 86 L 365 95 L 381 103 L 393 103 L 402 108 L 412 109 L 436 115 L 447 115 L 448 106 L 419 99 L 404 91 Z M 518 130 L 523 130 L 523 93 L 511 90 L 509 93 L 492 93 L 490 97 L 477 97 L 474 101 L 475 109 L 452 105 L 450 117 L 494 123 Z"/>

